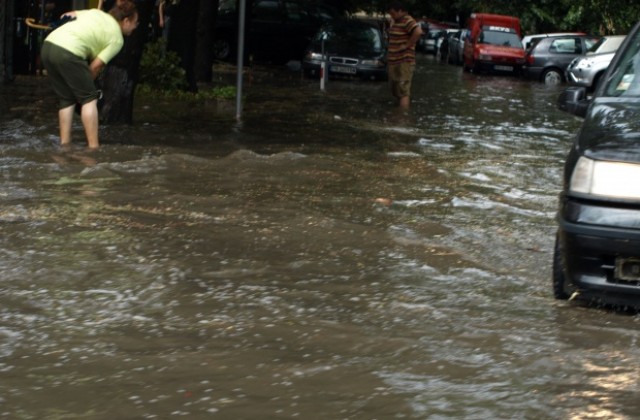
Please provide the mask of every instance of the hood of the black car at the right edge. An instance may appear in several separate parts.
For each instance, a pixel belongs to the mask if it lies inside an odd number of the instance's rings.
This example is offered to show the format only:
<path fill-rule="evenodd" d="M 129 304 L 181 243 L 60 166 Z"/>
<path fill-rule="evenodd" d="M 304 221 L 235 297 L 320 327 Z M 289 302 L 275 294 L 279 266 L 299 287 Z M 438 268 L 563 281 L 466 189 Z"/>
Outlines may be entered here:
<path fill-rule="evenodd" d="M 640 99 L 596 98 L 577 146 L 591 159 L 640 163 Z"/>

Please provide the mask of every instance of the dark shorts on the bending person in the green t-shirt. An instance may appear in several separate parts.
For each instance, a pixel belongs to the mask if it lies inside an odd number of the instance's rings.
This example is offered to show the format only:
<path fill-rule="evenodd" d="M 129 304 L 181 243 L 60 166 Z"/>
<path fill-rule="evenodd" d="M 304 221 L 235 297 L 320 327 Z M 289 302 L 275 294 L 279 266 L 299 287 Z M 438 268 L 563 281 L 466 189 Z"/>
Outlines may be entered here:
<path fill-rule="evenodd" d="M 44 42 L 40 57 L 61 109 L 98 99 L 99 92 L 86 60 L 50 42 Z"/>

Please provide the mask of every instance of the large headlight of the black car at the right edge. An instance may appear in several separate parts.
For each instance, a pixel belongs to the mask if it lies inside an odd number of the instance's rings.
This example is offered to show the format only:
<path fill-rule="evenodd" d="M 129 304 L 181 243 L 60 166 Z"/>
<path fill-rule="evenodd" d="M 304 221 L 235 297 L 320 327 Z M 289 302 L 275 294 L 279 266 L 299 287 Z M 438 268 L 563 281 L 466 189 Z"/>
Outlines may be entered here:
<path fill-rule="evenodd" d="M 609 198 L 640 199 L 640 165 L 598 161 L 581 156 L 571 175 L 569 190 Z"/>

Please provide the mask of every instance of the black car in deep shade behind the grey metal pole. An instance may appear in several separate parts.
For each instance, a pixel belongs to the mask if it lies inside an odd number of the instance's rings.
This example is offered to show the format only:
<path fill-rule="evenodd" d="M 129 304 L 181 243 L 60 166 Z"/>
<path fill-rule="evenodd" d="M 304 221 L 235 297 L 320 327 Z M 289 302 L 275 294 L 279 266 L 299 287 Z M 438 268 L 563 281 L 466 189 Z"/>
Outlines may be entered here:
<path fill-rule="evenodd" d="M 214 57 L 231 60 L 238 51 L 236 0 L 220 0 L 214 32 Z M 301 60 L 318 28 L 338 17 L 331 7 L 303 0 L 247 2 L 245 52 L 256 61 Z"/>

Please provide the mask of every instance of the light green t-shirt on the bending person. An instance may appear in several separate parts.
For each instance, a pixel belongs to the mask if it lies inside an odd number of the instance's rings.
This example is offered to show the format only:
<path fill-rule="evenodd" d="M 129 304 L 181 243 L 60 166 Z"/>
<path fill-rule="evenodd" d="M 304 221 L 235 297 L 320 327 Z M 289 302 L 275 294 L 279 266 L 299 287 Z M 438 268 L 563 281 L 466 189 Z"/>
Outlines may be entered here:
<path fill-rule="evenodd" d="M 105 64 L 124 44 L 118 21 L 98 9 L 76 11 L 76 19 L 55 29 L 45 41 L 86 60 L 99 58 Z"/>

